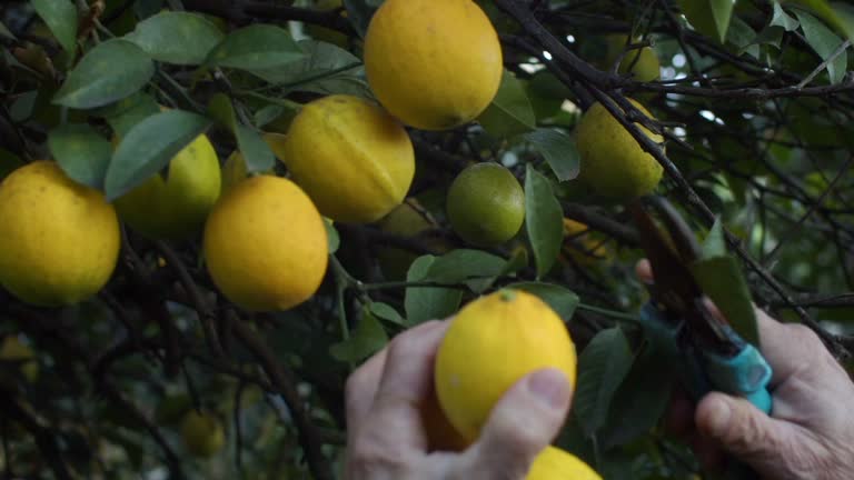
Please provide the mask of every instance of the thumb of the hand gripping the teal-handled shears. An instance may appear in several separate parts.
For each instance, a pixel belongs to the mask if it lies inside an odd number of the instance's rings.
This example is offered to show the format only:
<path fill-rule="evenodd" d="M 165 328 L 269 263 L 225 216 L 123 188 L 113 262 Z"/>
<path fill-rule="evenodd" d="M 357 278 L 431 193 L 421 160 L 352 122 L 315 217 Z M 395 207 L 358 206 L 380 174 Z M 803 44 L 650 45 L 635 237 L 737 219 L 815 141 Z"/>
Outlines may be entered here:
<path fill-rule="evenodd" d="M 695 422 L 702 434 L 757 470 L 773 468 L 792 434 L 747 400 L 717 392 L 699 402 Z"/>

